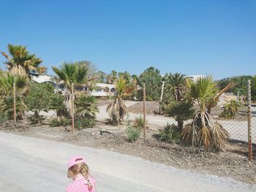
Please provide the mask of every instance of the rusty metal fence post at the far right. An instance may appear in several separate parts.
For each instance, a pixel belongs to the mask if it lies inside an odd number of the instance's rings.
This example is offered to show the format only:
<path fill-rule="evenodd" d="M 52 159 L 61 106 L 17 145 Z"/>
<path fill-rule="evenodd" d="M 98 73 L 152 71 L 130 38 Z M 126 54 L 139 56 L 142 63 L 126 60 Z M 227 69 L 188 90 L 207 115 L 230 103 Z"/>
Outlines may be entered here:
<path fill-rule="evenodd" d="M 252 107 L 251 107 L 251 80 L 247 83 L 247 109 L 248 109 L 248 159 L 252 161 Z"/>

